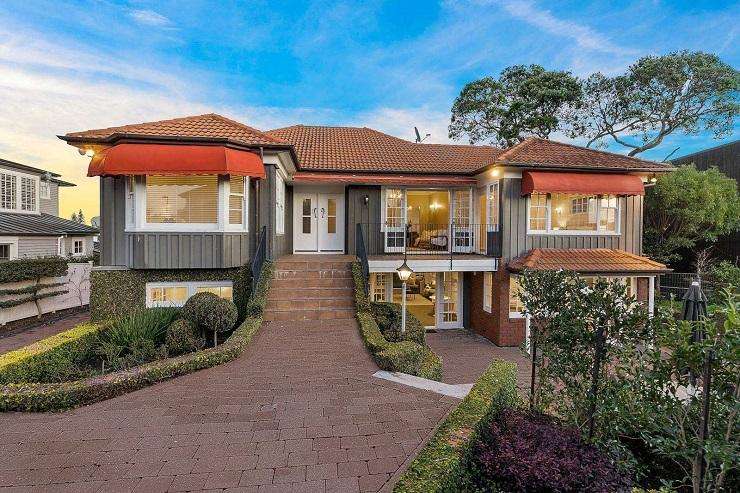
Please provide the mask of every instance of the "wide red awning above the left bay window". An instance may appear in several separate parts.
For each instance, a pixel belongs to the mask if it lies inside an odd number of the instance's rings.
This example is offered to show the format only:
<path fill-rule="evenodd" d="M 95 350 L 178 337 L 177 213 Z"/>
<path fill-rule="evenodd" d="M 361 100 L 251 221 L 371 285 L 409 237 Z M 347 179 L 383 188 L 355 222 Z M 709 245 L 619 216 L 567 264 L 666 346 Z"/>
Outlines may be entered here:
<path fill-rule="evenodd" d="M 264 178 L 254 152 L 224 146 L 118 144 L 93 156 L 87 176 L 240 175 Z"/>

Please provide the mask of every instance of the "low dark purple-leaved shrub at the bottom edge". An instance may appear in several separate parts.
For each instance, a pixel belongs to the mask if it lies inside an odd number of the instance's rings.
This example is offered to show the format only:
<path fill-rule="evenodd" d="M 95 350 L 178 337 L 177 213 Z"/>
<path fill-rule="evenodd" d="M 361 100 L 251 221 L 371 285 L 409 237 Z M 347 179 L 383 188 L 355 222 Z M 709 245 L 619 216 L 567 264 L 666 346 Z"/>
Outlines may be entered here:
<path fill-rule="evenodd" d="M 602 452 L 581 440 L 578 430 L 511 408 L 481 426 L 464 471 L 482 491 L 612 493 L 630 486 Z"/>

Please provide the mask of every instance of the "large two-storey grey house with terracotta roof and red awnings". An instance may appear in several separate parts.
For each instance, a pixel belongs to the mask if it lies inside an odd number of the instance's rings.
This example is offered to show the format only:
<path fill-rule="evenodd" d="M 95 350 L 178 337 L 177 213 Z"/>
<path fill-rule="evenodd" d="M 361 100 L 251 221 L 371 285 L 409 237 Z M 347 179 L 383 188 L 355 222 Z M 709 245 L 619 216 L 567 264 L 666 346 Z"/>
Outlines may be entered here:
<path fill-rule="evenodd" d="M 357 255 L 378 301 L 400 301 L 406 257 L 411 312 L 499 345 L 526 336 L 522 269 L 618 278 L 651 307 L 666 270 L 641 256 L 642 206 L 670 167 L 641 159 L 537 138 L 498 149 L 369 128 L 263 132 L 215 114 L 60 138 L 94 152 L 101 269 L 136 272 L 150 306 L 231 296 L 226 272 L 263 232 L 272 258 Z"/>

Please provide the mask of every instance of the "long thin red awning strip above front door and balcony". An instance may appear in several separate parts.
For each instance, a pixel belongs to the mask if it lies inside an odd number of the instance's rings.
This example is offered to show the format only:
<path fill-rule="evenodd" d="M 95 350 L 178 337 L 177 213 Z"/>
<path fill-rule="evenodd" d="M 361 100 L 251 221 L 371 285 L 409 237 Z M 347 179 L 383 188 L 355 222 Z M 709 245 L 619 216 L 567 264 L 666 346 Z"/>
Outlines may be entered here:
<path fill-rule="evenodd" d="M 477 181 L 468 176 L 448 175 L 401 175 L 401 174 L 371 174 L 371 173 L 327 173 L 299 171 L 293 175 L 293 180 L 299 183 L 347 183 L 355 185 L 413 185 L 413 186 L 471 186 Z"/>

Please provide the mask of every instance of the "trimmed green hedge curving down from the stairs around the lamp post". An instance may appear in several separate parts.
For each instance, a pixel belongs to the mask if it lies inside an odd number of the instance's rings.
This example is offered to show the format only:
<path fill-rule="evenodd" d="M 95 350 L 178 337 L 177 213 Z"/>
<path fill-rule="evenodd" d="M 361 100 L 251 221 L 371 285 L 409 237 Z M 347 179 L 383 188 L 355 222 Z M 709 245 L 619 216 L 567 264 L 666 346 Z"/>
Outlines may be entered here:
<path fill-rule="evenodd" d="M 388 320 L 387 323 L 390 326 L 390 319 L 396 313 L 395 309 L 387 306 L 391 305 L 390 303 L 376 304 L 368 301 L 365 283 L 362 279 L 362 269 L 357 262 L 352 264 L 352 277 L 355 283 L 355 306 L 360 335 L 378 367 L 382 370 L 408 373 L 429 380 L 441 380 L 442 360 L 424 342 L 421 322 L 412 314 L 407 314 L 407 327 L 421 327 L 422 331 L 408 330 L 404 334 L 406 340 L 389 342 L 378 327 L 373 310 L 380 314 L 381 319 Z"/>

